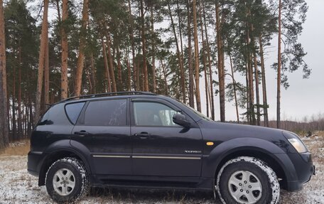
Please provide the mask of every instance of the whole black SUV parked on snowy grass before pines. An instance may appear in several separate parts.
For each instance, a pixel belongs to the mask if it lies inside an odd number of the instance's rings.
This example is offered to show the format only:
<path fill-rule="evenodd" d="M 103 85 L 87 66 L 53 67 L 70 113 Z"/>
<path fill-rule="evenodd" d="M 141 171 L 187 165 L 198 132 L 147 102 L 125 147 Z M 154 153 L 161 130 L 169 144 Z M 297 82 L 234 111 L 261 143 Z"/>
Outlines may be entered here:
<path fill-rule="evenodd" d="M 278 203 L 315 168 L 296 134 L 214 122 L 149 92 L 53 104 L 31 135 L 28 171 L 58 203 L 90 186 L 213 190 L 222 203 Z"/>

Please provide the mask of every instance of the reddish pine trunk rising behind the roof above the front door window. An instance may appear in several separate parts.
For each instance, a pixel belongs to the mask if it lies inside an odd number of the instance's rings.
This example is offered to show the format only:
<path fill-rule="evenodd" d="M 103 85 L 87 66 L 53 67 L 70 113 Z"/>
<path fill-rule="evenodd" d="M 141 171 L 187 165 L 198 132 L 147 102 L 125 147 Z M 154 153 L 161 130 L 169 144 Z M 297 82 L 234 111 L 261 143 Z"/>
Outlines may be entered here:
<path fill-rule="evenodd" d="M 143 79 L 144 87 L 143 90 L 148 92 L 148 73 L 146 65 L 146 38 L 145 38 L 145 18 L 144 18 L 144 0 L 141 0 L 141 41 L 142 41 L 142 51 L 143 51 Z"/>

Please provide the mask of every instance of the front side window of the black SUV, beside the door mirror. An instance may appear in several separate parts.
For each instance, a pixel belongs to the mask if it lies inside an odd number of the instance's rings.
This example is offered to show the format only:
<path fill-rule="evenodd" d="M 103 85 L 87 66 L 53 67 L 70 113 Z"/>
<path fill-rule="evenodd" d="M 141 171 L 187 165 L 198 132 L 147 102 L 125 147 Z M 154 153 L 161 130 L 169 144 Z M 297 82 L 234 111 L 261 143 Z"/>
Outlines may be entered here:
<path fill-rule="evenodd" d="M 138 126 L 172 126 L 173 114 L 177 112 L 165 104 L 157 102 L 134 102 L 134 120 Z"/>

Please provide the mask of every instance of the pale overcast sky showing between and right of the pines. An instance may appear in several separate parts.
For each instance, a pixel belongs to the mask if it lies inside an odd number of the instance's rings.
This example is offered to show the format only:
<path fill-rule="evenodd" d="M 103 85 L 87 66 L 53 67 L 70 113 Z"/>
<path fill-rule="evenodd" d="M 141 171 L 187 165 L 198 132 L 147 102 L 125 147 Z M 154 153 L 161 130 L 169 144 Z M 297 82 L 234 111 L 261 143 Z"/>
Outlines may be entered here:
<path fill-rule="evenodd" d="M 303 24 L 303 33 L 298 40 L 308 53 L 305 61 L 312 69 L 311 76 L 303 79 L 301 70 L 287 73 L 290 87 L 281 88 L 281 119 L 302 120 L 303 117 L 324 114 L 324 1 L 306 0 L 309 6 L 306 22 Z M 274 38 L 276 43 L 277 36 Z M 266 85 L 269 103 L 269 119 L 276 119 L 276 72 L 270 66 L 277 60 L 276 47 L 269 48 L 266 59 Z M 229 70 L 229 65 L 226 65 Z M 237 74 L 235 77 L 239 77 Z M 217 76 L 215 76 L 217 77 Z M 231 82 L 227 77 L 225 82 Z M 203 84 L 202 84 L 203 85 Z M 261 90 L 261 87 L 260 87 Z M 262 97 L 260 101 L 262 102 Z M 202 90 L 202 100 L 205 102 L 205 90 Z M 220 119 L 219 97 L 215 97 L 215 119 Z M 205 106 L 202 106 L 205 112 Z M 245 110 L 240 110 L 240 113 Z M 234 103 L 227 102 L 225 107 L 227 120 L 235 120 Z"/>

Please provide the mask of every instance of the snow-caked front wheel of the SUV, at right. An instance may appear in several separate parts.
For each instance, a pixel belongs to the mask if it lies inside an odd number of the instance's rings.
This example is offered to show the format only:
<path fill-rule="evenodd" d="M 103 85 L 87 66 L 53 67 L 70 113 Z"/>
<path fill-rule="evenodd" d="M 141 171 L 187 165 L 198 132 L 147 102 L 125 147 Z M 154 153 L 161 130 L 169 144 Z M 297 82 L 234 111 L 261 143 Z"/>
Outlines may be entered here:
<path fill-rule="evenodd" d="M 227 161 L 215 186 L 222 203 L 279 203 L 276 173 L 259 159 L 240 156 Z"/>

